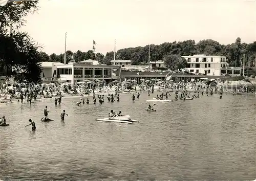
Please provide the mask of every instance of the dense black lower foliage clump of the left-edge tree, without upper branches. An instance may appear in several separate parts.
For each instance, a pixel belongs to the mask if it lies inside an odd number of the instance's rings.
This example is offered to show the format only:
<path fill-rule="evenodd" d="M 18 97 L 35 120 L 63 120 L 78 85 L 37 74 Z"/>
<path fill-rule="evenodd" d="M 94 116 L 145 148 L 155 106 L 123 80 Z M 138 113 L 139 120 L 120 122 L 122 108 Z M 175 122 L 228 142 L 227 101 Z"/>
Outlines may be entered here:
<path fill-rule="evenodd" d="M 0 36 L 0 67 L 6 67 L 7 76 L 14 76 L 17 82 L 38 83 L 41 81 L 40 62 L 42 56 L 38 47 L 30 40 L 27 33 L 14 33 L 12 37 Z"/>

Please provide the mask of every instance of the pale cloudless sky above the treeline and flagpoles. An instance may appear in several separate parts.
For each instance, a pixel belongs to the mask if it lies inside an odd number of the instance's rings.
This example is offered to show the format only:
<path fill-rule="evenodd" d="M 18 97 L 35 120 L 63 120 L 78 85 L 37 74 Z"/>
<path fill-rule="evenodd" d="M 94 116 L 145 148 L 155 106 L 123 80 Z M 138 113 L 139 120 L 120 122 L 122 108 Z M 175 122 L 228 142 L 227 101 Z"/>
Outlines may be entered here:
<path fill-rule="evenodd" d="M 256 41 L 254 0 L 39 0 L 23 31 L 52 54 L 194 39 Z"/>

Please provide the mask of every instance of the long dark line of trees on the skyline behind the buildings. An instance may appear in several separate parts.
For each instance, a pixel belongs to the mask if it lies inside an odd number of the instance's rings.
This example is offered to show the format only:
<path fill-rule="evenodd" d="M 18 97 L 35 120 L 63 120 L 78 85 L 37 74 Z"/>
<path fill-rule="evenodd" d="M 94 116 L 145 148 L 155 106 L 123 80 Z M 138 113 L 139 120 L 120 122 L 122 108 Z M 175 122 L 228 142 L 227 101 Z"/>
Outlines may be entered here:
<path fill-rule="evenodd" d="M 105 56 L 100 53 L 97 53 L 96 55 L 93 54 L 94 53 L 92 51 L 82 52 L 78 50 L 76 53 L 73 53 L 73 57 L 76 62 L 86 59 L 96 59 L 101 63 L 110 64 L 110 61 L 114 60 L 113 51 L 106 53 Z M 175 64 L 180 64 L 180 58 L 178 58 L 179 56 L 170 55 L 189 56 L 195 54 L 226 56 L 229 66 L 241 66 L 240 60 L 243 58 L 243 54 L 245 54 L 246 65 L 254 66 L 256 41 L 249 44 L 241 43 L 241 39 L 238 37 L 236 41 L 227 45 L 220 44 L 218 41 L 212 39 L 201 40 L 198 43 L 196 43 L 195 40 L 186 40 L 179 42 L 164 42 L 159 45 L 150 45 L 151 61 L 172 59 L 174 61 L 178 61 Z M 56 56 L 55 54 L 50 55 L 50 61 L 59 61 L 59 56 Z M 148 64 L 148 45 L 145 47 L 120 49 L 116 52 L 116 60 L 131 60 L 132 64 L 135 65 Z"/>

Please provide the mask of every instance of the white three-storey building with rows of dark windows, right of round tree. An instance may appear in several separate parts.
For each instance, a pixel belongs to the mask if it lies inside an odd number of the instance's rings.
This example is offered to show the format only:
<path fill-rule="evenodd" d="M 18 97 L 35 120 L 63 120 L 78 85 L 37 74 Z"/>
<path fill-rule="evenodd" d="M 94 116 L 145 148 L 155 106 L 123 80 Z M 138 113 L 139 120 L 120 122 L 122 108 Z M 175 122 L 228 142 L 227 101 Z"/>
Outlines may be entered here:
<path fill-rule="evenodd" d="M 223 74 L 239 76 L 241 74 L 241 67 L 227 67 L 225 56 L 193 55 L 183 57 L 187 60 L 187 69 L 191 73 L 210 76 L 221 76 Z"/>

